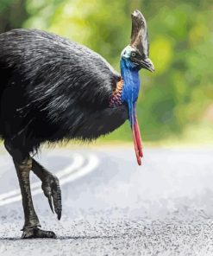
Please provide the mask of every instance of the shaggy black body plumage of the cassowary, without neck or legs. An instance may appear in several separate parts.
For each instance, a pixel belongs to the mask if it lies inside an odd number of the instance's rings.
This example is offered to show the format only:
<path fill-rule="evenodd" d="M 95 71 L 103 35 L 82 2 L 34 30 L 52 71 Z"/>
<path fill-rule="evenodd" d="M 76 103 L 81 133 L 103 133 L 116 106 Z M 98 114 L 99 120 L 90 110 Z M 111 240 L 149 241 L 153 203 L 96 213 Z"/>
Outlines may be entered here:
<path fill-rule="evenodd" d="M 93 139 L 128 118 L 110 108 L 119 74 L 89 48 L 40 30 L 0 35 L 0 133 L 26 152 L 42 142 Z"/>

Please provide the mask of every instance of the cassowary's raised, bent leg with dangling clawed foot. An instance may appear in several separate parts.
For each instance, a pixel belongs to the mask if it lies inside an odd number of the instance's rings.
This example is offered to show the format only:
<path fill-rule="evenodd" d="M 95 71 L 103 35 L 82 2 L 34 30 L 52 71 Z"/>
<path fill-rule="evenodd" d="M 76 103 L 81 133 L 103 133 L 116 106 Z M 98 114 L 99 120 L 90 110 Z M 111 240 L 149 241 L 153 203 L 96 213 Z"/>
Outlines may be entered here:
<path fill-rule="evenodd" d="M 53 211 L 54 207 L 54 211 L 60 220 L 62 205 L 59 179 L 35 161 L 34 158 L 32 158 L 32 170 L 41 179 L 41 188 L 44 191 L 44 195 L 47 196 L 50 208 Z"/>

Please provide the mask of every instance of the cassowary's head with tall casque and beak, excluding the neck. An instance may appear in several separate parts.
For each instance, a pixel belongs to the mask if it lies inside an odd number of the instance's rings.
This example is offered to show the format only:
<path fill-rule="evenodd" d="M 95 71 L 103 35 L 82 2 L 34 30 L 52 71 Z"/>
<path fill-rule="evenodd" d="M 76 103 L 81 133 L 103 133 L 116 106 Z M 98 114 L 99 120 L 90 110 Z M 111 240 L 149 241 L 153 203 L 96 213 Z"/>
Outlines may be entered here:
<path fill-rule="evenodd" d="M 130 44 L 122 50 L 121 59 L 130 70 L 145 68 L 154 71 L 149 59 L 147 23 L 139 10 L 132 14 L 132 33 Z"/>

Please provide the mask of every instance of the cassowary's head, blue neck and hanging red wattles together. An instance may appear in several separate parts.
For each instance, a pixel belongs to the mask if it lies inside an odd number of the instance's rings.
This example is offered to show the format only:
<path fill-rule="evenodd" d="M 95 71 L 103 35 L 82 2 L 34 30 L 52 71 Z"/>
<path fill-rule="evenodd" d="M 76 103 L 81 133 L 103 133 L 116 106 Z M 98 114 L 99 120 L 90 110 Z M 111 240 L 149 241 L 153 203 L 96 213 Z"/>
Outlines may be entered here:
<path fill-rule="evenodd" d="M 128 107 L 128 119 L 133 132 L 135 154 L 141 165 L 142 145 L 139 125 L 136 118 L 136 101 L 140 89 L 139 70 L 146 68 L 153 72 L 153 62 L 149 59 L 147 23 L 139 10 L 132 14 L 132 33 L 130 44 L 122 50 L 122 80 L 117 83 L 111 105 L 125 104 Z"/>

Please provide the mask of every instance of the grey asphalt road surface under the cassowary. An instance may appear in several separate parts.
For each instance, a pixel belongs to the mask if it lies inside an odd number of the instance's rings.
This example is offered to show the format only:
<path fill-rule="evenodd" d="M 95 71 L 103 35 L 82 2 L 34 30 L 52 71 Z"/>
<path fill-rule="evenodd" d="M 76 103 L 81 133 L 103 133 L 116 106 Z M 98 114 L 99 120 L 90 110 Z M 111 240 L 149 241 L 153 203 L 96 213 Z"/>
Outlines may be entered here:
<path fill-rule="evenodd" d="M 2 150 L 1 150 L 2 151 Z M 213 148 L 42 150 L 60 176 L 63 212 L 51 212 L 32 174 L 34 207 L 57 240 L 20 240 L 16 171 L 0 155 L 0 255 L 213 255 Z"/>

